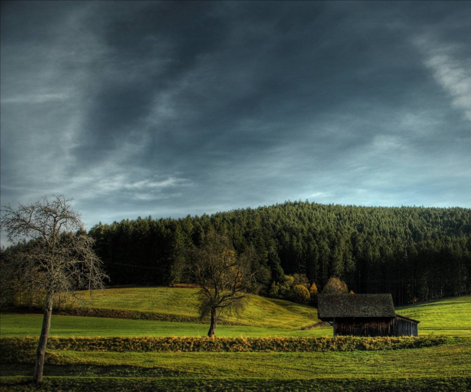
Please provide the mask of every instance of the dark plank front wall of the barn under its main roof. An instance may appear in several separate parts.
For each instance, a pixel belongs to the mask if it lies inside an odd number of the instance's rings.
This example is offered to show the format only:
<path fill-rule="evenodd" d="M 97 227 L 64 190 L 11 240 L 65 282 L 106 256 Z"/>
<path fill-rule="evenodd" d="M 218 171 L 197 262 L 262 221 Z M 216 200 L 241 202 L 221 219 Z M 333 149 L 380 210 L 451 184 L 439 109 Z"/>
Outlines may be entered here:
<path fill-rule="evenodd" d="M 394 318 L 336 318 L 335 334 L 341 336 L 394 336 Z"/>

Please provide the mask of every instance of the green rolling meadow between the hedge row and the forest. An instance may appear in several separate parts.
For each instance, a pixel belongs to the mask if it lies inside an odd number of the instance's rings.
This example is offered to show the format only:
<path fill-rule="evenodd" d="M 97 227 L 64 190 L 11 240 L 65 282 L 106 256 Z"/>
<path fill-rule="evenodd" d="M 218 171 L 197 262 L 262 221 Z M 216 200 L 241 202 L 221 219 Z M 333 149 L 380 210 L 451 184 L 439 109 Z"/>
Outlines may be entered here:
<path fill-rule="evenodd" d="M 100 312 L 133 312 L 190 317 L 197 319 L 196 289 L 126 288 L 96 291 L 92 297 L 81 293 L 84 303 Z M 397 313 L 418 319 L 419 335 L 471 336 L 471 296 L 446 298 L 396 309 Z M 2 314 L 1 332 L 6 336 L 39 334 L 41 315 Z M 249 295 L 245 309 L 219 324 L 217 336 L 332 336 L 331 327 L 301 330 L 307 325 L 321 326 L 317 311 L 289 301 Z M 232 324 L 232 325 L 231 325 Z M 53 316 L 52 336 L 205 336 L 209 323 L 148 321 L 98 317 Z"/>

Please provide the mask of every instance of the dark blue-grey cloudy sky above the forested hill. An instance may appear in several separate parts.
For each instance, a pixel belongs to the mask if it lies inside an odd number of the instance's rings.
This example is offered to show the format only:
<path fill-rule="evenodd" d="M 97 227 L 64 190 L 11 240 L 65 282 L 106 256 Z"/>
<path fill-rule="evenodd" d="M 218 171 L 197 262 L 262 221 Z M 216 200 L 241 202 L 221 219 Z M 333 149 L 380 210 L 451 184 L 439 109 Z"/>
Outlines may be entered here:
<path fill-rule="evenodd" d="M 1 204 L 90 228 L 471 207 L 471 2 L 1 3 Z"/>

